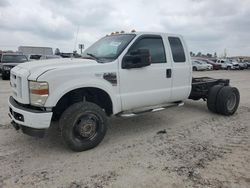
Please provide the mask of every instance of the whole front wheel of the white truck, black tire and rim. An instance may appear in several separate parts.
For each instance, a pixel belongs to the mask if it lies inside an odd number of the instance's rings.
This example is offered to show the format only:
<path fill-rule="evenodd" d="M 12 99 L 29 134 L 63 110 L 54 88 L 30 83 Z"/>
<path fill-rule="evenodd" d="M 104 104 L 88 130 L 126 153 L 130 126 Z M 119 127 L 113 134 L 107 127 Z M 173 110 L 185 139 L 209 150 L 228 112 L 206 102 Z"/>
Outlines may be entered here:
<path fill-rule="evenodd" d="M 85 151 L 96 147 L 107 131 L 105 112 L 96 104 L 79 102 L 62 114 L 60 121 L 62 137 L 73 151 Z"/>

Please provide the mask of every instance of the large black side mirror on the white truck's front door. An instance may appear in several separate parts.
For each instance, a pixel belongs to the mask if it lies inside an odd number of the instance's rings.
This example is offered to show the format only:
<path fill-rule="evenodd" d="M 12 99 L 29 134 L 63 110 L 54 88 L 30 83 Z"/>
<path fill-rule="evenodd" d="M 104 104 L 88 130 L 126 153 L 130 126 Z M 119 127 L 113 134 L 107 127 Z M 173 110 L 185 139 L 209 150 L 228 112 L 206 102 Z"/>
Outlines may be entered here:
<path fill-rule="evenodd" d="M 126 54 L 122 59 L 123 69 L 141 68 L 151 64 L 151 56 L 148 49 L 138 49 Z"/>

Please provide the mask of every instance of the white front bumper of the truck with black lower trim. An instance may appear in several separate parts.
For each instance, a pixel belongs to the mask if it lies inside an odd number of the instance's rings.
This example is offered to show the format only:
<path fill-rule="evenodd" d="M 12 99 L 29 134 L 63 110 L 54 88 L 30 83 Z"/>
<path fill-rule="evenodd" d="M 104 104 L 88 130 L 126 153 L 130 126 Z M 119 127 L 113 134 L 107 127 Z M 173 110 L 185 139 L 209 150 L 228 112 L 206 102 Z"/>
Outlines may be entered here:
<path fill-rule="evenodd" d="M 10 97 L 9 116 L 12 120 L 12 125 L 16 129 L 21 128 L 25 134 L 36 136 L 33 133 L 44 132 L 50 127 L 52 112 L 23 107 L 13 97 Z M 39 135 L 37 134 L 37 136 Z"/>

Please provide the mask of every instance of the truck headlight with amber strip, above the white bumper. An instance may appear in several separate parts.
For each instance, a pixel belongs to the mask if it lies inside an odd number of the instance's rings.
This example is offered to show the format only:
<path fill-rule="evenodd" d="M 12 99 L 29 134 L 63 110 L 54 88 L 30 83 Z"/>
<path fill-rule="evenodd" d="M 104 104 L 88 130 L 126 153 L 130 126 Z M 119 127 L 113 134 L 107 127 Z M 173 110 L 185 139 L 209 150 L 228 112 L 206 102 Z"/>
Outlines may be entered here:
<path fill-rule="evenodd" d="M 34 106 L 44 106 L 49 96 L 47 82 L 29 81 L 30 103 Z"/>

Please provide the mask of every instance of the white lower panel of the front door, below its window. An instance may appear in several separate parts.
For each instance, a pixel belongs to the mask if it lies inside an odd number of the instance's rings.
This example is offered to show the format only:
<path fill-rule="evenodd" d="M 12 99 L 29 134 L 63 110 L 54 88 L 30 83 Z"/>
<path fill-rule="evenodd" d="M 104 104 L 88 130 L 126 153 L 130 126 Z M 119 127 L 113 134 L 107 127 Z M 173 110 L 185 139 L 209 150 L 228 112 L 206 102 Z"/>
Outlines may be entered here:
<path fill-rule="evenodd" d="M 123 110 L 158 105 L 171 95 L 171 78 L 166 78 L 167 63 L 151 64 L 120 71 Z"/>

